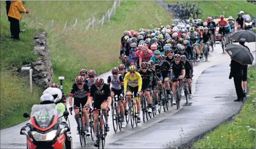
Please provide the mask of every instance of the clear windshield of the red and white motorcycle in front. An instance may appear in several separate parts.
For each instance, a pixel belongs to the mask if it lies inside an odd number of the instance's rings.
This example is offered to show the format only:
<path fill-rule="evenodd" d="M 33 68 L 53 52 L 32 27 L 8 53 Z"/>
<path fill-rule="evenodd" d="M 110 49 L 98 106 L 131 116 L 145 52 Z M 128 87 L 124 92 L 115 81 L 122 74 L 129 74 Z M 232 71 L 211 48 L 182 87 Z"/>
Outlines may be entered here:
<path fill-rule="evenodd" d="M 31 116 L 35 118 L 37 125 L 45 129 L 52 123 L 52 117 L 58 115 L 55 109 L 56 104 L 33 105 L 31 108 Z"/>

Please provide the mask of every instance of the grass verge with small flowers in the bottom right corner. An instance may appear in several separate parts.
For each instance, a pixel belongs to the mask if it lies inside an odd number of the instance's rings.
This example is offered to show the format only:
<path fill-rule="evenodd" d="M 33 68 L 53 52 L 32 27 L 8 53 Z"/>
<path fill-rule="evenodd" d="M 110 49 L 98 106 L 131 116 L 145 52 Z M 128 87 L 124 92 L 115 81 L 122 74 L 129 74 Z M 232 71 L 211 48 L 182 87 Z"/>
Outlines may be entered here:
<path fill-rule="evenodd" d="M 255 66 L 248 70 L 250 93 L 234 120 L 207 133 L 193 149 L 255 149 Z"/>

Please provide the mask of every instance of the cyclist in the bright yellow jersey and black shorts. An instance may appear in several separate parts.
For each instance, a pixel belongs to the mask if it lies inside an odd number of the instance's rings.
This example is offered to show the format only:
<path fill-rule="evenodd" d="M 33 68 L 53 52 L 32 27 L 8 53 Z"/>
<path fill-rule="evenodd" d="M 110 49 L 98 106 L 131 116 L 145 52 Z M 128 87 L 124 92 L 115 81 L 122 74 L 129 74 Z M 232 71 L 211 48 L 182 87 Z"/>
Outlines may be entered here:
<path fill-rule="evenodd" d="M 130 66 L 129 72 L 125 74 L 124 77 L 124 92 L 126 95 L 132 95 L 134 93 L 134 97 L 136 99 L 136 105 L 137 105 L 137 122 L 140 123 L 140 111 L 141 111 L 141 105 L 140 105 L 140 91 L 142 89 L 142 77 L 140 76 L 139 72 L 136 72 L 136 66 Z M 129 105 L 131 105 L 131 96 L 127 96 L 127 101 Z"/>

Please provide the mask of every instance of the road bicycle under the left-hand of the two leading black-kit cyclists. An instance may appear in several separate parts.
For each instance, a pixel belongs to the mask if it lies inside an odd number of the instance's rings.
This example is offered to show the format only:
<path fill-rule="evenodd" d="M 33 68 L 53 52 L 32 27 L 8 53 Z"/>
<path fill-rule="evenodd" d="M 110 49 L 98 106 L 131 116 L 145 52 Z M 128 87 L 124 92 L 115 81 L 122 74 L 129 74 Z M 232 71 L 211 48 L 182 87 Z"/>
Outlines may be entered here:
<path fill-rule="evenodd" d="M 85 108 L 82 107 L 80 103 L 80 107 L 75 107 L 74 110 L 75 109 L 79 109 L 78 132 L 79 132 L 80 144 L 81 144 L 81 147 L 83 147 L 83 145 L 85 146 L 87 144 L 87 136 L 85 133 L 86 130 L 85 130 L 85 124 L 84 124 L 84 117 L 83 117 L 83 109 Z M 71 112 L 71 115 L 72 115 L 72 112 Z"/>

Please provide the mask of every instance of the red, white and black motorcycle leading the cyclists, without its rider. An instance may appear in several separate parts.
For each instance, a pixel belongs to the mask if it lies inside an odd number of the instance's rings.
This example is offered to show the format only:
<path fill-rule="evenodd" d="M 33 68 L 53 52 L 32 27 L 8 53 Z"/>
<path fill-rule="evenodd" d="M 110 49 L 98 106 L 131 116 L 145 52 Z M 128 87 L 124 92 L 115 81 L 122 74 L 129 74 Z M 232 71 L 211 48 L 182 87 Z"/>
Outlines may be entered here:
<path fill-rule="evenodd" d="M 27 149 L 72 149 L 72 137 L 67 118 L 68 111 L 63 115 L 55 110 L 55 104 L 33 105 L 31 116 L 28 112 L 23 117 L 30 117 L 30 123 L 21 128 L 20 134 L 27 136 Z"/>

